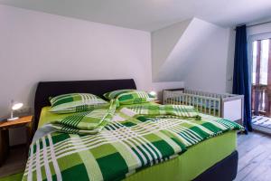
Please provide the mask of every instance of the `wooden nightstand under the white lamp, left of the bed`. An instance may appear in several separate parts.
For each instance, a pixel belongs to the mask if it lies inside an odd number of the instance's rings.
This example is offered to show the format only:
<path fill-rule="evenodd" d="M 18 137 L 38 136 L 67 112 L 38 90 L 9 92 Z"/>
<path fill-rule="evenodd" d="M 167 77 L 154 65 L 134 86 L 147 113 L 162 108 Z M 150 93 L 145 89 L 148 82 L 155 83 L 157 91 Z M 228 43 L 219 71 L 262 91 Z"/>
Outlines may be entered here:
<path fill-rule="evenodd" d="M 33 136 L 33 116 L 25 116 L 19 119 L 0 122 L 0 167 L 5 161 L 9 152 L 9 131 L 8 129 L 26 128 L 26 148 L 29 148 Z"/>

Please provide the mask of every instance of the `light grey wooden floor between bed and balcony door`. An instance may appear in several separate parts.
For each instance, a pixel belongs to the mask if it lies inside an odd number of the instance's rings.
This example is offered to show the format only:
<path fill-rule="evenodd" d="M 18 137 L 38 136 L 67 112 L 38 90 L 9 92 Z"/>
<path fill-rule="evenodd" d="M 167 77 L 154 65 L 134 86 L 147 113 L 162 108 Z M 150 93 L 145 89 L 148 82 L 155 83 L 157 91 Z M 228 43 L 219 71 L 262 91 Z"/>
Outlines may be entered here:
<path fill-rule="evenodd" d="M 271 180 L 271 137 L 261 133 L 238 136 L 238 176 L 236 181 Z"/>

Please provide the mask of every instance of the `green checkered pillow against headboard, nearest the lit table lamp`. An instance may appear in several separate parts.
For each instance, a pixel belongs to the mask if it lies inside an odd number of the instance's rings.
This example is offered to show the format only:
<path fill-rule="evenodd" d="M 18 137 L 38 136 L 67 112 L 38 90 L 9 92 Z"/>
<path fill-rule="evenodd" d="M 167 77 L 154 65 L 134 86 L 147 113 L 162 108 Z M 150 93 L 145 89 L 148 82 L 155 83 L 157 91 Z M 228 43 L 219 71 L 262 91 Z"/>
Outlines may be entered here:
<path fill-rule="evenodd" d="M 69 93 L 51 98 L 51 112 L 70 113 L 93 110 L 108 106 L 106 100 L 90 93 Z"/>

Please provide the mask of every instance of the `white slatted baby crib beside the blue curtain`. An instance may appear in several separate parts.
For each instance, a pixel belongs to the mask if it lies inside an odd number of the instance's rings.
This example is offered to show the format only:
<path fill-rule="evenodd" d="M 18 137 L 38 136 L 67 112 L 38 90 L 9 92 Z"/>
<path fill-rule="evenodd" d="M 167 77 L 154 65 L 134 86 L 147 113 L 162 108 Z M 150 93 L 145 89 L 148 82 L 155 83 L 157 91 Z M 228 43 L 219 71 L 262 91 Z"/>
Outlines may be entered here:
<path fill-rule="evenodd" d="M 164 90 L 164 104 L 192 105 L 201 113 L 243 123 L 243 95 L 189 89 Z"/>

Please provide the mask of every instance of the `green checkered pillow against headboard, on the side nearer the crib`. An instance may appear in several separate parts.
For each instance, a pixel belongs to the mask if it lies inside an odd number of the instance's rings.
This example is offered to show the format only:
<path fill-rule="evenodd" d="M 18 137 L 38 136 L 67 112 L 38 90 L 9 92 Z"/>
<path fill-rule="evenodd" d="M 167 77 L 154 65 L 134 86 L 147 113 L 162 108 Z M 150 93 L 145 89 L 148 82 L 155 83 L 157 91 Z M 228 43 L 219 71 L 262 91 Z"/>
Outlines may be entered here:
<path fill-rule="evenodd" d="M 138 104 L 156 100 L 154 95 L 141 90 L 114 90 L 104 94 L 107 100 L 118 100 L 119 104 Z"/>

